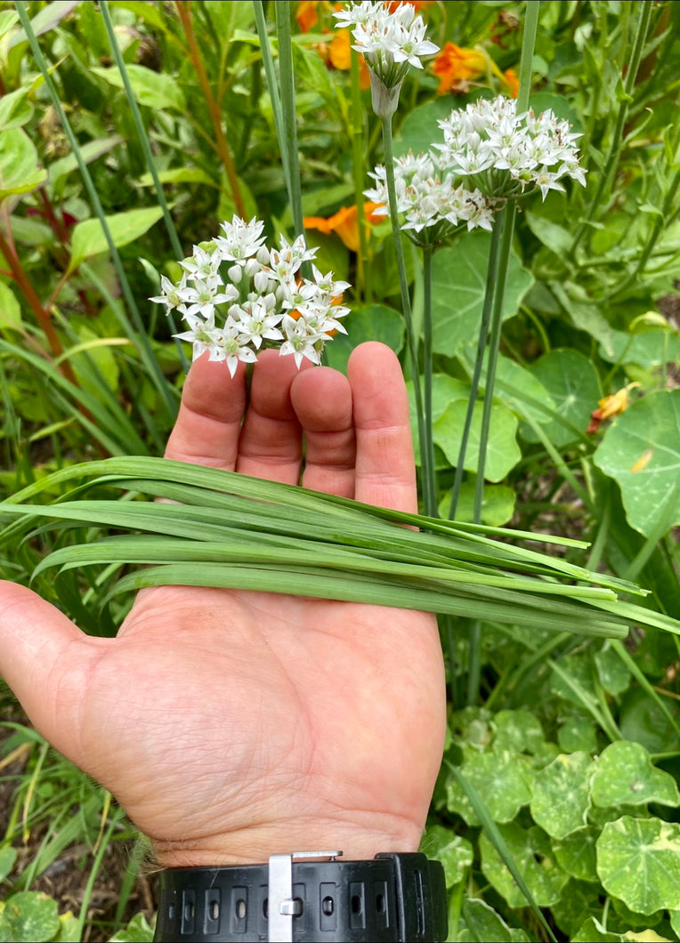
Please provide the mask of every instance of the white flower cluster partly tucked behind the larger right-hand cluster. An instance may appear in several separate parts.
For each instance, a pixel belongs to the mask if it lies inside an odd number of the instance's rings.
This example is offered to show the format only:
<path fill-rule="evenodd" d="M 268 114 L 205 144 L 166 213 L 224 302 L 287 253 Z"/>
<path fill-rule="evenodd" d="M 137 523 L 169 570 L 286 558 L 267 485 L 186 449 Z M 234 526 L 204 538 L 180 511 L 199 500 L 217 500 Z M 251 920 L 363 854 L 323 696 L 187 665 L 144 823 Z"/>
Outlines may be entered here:
<path fill-rule="evenodd" d="M 388 187 L 385 167 L 380 165 L 369 176 L 376 186 L 365 190 L 365 196 L 380 206 L 376 216 L 386 216 Z M 456 178 L 442 165 L 435 152 L 419 154 L 409 151 L 394 161 L 394 186 L 397 211 L 404 215 L 402 229 L 420 245 L 436 245 L 451 236 L 458 226 L 468 231 L 480 226 L 492 229 L 493 209 L 480 190 L 456 186 Z"/>

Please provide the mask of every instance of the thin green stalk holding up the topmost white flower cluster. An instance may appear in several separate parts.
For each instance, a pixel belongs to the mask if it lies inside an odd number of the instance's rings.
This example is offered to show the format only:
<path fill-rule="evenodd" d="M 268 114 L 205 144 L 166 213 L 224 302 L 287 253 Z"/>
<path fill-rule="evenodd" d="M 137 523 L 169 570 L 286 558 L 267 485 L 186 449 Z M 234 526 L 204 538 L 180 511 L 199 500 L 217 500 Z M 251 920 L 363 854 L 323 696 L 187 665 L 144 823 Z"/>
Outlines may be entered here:
<path fill-rule="evenodd" d="M 385 150 L 385 172 L 388 187 L 388 203 L 390 209 L 390 223 L 392 229 L 392 241 L 394 243 L 394 254 L 397 260 L 397 271 L 399 273 L 399 291 L 402 299 L 402 310 L 404 313 L 404 324 L 406 327 L 406 349 L 408 351 L 408 364 L 411 377 L 413 378 L 413 396 L 416 406 L 416 419 L 418 422 L 418 442 L 421 451 L 421 472 L 423 487 L 423 505 L 426 507 L 437 507 L 437 490 L 434 482 L 434 468 L 429 464 L 429 445 L 426 438 L 425 416 L 423 408 L 423 390 L 421 389 L 421 375 L 418 364 L 418 346 L 417 339 L 413 331 L 413 316 L 411 314 L 411 300 L 408 294 L 408 278 L 406 276 L 406 259 L 404 258 L 404 245 L 402 243 L 402 231 L 399 225 L 399 214 L 397 211 L 397 191 L 394 183 L 394 149 L 392 146 L 392 123 L 391 118 L 382 118 L 383 147 Z"/>

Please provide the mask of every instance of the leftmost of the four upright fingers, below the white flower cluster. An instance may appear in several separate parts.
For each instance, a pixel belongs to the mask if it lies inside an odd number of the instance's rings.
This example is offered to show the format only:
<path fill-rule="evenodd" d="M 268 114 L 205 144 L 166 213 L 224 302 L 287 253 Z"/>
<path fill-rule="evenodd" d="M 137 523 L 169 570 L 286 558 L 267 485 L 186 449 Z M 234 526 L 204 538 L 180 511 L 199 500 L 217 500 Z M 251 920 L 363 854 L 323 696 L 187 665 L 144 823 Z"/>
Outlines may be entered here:
<path fill-rule="evenodd" d="M 245 368 L 234 374 L 207 354 L 191 364 L 166 458 L 233 472 L 245 409 Z"/>

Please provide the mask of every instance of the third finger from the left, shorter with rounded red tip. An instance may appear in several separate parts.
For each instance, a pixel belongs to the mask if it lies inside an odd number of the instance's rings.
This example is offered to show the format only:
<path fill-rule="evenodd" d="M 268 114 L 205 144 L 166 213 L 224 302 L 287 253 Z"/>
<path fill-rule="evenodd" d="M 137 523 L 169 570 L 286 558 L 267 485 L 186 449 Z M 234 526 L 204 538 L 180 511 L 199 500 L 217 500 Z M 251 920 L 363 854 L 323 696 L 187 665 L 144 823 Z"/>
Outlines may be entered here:
<path fill-rule="evenodd" d="M 302 484 L 353 498 L 356 443 L 349 380 L 329 367 L 315 367 L 293 379 L 290 402 L 305 434 Z"/>

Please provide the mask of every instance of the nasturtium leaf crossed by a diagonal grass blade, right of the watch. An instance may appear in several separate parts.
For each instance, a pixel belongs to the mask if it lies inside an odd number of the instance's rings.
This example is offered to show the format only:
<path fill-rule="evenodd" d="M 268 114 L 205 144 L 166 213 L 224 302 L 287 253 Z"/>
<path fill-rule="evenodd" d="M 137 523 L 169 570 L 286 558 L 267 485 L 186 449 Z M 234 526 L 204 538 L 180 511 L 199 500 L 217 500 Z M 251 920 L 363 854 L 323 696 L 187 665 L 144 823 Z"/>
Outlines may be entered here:
<path fill-rule="evenodd" d="M 538 906 L 550 907 L 556 903 L 569 875 L 557 864 L 548 835 L 538 825 L 523 829 L 517 822 L 499 825 L 498 829 Z M 510 907 L 525 907 L 522 891 L 486 833 L 479 836 L 479 850 L 482 871 L 491 885 L 505 897 Z"/>

